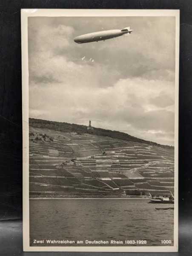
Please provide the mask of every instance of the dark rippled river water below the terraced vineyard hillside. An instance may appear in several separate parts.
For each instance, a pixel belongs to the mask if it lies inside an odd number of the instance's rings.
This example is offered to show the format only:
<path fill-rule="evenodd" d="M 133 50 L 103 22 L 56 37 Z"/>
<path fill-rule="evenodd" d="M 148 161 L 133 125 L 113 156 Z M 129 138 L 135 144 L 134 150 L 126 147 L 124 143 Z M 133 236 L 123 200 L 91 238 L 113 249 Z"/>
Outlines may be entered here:
<path fill-rule="evenodd" d="M 30 200 L 30 245 L 63 246 L 34 244 L 34 239 L 68 239 L 75 241 L 73 246 L 86 246 L 87 239 L 120 240 L 123 241 L 120 246 L 173 246 L 174 210 L 155 209 L 173 205 L 147 202 L 138 199 Z M 77 244 L 77 240 L 83 244 Z M 125 240 L 146 240 L 146 244 L 125 244 Z M 161 240 L 171 240 L 171 244 L 162 244 Z"/>

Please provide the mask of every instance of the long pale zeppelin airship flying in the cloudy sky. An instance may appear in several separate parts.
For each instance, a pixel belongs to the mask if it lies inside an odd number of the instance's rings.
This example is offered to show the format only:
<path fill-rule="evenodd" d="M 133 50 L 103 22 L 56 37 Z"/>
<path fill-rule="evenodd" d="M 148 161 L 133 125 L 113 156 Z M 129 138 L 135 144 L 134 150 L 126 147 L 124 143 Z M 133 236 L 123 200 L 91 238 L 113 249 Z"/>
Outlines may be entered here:
<path fill-rule="evenodd" d="M 112 29 L 112 30 L 105 30 L 105 31 L 98 31 L 93 32 L 85 35 L 79 35 L 74 38 L 75 43 L 77 44 L 84 44 L 90 42 L 97 42 L 97 41 L 105 41 L 110 38 L 116 38 L 121 35 L 131 34 L 133 30 L 130 27 L 126 27 L 124 29 Z"/>

